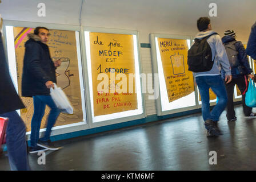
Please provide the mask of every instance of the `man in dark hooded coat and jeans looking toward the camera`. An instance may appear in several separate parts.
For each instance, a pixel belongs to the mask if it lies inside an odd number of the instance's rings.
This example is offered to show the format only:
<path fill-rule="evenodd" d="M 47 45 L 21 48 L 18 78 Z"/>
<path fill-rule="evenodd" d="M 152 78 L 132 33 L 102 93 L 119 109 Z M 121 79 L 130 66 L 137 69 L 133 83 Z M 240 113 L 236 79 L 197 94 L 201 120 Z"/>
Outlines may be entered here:
<path fill-rule="evenodd" d="M 49 30 L 37 27 L 34 34 L 28 34 L 29 40 L 25 43 L 25 56 L 22 72 L 22 96 L 33 97 L 34 114 L 31 120 L 30 154 L 44 150 L 58 150 L 50 140 L 51 128 L 54 126 L 60 110 L 50 96 L 50 88 L 56 82 L 55 68 L 61 65 L 61 60 L 53 63 L 50 57 Z M 50 107 L 47 118 L 45 136 L 39 139 L 39 130 L 45 107 Z"/>

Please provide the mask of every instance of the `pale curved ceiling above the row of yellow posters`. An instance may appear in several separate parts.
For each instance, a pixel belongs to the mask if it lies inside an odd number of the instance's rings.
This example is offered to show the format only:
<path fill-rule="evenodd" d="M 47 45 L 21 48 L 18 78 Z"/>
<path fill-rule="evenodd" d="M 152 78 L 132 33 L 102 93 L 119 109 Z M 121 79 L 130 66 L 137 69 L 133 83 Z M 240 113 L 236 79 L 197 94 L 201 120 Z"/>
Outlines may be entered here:
<path fill-rule="evenodd" d="M 237 40 L 247 42 L 256 21 L 255 0 L 85 0 L 82 25 L 139 30 L 141 42 L 150 33 L 195 35 L 196 21 L 209 16 L 216 3 L 217 17 L 210 17 L 219 35 L 231 28 Z M 38 3 L 45 3 L 46 16 L 38 17 Z M 82 0 L 2 0 L 0 13 L 6 20 L 79 25 Z"/>

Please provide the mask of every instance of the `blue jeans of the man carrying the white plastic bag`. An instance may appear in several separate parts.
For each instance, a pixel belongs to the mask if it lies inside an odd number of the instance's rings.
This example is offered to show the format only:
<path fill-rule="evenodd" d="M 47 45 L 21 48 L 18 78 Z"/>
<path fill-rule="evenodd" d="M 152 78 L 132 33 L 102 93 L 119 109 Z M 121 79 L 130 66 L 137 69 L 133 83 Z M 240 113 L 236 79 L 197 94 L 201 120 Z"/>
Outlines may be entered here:
<path fill-rule="evenodd" d="M 54 104 L 54 101 L 51 98 L 51 96 L 33 96 L 33 103 L 34 103 L 34 114 L 31 120 L 31 135 L 30 135 L 31 147 L 37 146 L 37 143 L 39 140 L 39 131 L 41 126 L 41 121 L 42 121 L 43 115 L 45 114 L 45 106 L 48 105 L 51 108 L 51 110 L 47 118 L 45 136 L 41 138 L 41 140 L 43 141 L 47 141 L 50 139 L 51 128 L 54 126 L 59 116 L 59 113 L 61 113 L 58 107 Z"/>

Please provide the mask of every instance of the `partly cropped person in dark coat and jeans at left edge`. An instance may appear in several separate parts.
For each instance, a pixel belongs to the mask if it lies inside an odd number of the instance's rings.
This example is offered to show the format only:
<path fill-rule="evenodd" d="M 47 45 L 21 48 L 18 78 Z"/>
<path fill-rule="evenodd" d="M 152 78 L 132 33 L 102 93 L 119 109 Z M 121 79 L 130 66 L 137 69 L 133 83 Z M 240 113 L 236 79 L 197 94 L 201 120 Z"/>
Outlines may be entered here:
<path fill-rule="evenodd" d="M 2 33 L 0 32 L 0 82 L 4 83 L 0 87 L 0 117 L 9 118 L 6 129 L 6 147 L 11 170 L 30 170 L 27 160 L 26 127 L 17 109 L 23 109 L 13 81 L 9 73 L 9 66 L 3 48 Z"/>

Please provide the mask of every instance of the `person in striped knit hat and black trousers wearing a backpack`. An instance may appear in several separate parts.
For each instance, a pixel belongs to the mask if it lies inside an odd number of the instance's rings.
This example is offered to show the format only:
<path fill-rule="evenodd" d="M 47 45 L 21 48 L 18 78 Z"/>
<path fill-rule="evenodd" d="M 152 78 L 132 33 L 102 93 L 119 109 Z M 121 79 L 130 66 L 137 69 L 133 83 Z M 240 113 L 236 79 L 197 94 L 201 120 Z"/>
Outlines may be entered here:
<path fill-rule="evenodd" d="M 245 116 L 256 116 L 255 113 L 251 113 L 252 108 L 246 106 L 245 104 L 245 93 L 247 91 L 248 85 L 248 77 L 253 79 L 253 72 L 250 68 L 248 57 L 245 51 L 245 47 L 243 47 L 242 42 L 235 40 L 236 35 L 233 30 L 227 30 L 224 32 L 222 42 L 226 48 L 227 57 L 229 57 L 229 63 L 231 67 L 232 81 L 229 84 L 225 84 L 227 90 L 227 120 L 235 121 L 237 117 L 235 117 L 234 110 L 234 102 L 233 102 L 233 94 L 234 87 L 237 84 L 240 92 L 242 93 L 242 105 L 243 105 L 243 113 Z M 225 72 L 223 69 L 221 70 L 222 77 L 224 78 Z"/>

